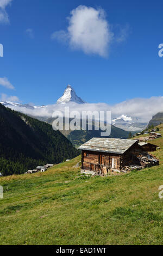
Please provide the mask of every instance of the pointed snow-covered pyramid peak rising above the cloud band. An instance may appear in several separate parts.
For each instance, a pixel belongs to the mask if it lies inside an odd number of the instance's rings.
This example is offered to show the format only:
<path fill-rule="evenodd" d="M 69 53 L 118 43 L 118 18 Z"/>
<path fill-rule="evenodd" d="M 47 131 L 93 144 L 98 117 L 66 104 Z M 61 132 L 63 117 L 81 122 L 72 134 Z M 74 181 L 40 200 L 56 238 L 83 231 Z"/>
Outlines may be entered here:
<path fill-rule="evenodd" d="M 65 89 L 64 94 L 57 100 L 57 103 L 65 104 L 68 102 L 76 102 L 78 104 L 83 104 L 83 101 L 80 97 L 77 96 L 74 89 L 68 84 L 67 88 Z"/>

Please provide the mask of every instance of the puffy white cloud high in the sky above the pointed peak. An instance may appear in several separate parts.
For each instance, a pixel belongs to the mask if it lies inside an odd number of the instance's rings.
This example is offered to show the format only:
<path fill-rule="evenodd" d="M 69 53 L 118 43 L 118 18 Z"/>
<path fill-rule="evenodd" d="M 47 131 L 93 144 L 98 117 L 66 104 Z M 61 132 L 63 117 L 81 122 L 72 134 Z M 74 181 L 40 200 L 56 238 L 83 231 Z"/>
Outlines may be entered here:
<path fill-rule="evenodd" d="M 79 5 L 68 17 L 67 31 L 57 31 L 51 36 L 68 44 L 74 50 L 82 50 L 86 54 L 108 55 L 108 48 L 114 34 L 110 30 L 103 9 L 95 9 Z"/>

